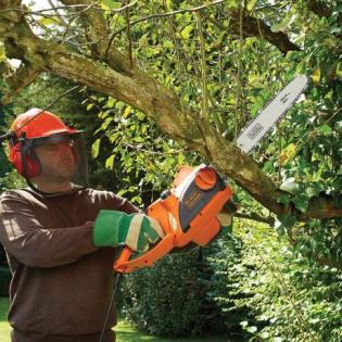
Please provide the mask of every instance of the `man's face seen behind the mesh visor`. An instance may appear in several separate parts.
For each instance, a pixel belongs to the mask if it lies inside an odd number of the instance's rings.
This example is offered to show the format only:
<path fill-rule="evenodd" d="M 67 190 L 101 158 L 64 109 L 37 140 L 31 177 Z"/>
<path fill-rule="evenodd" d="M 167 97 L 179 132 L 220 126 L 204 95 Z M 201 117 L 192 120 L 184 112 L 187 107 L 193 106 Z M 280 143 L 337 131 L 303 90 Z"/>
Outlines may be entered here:
<path fill-rule="evenodd" d="M 51 180 L 71 180 L 76 168 L 73 144 L 73 140 L 66 140 L 36 145 L 35 153 L 41 164 L 40 176 Z"/>

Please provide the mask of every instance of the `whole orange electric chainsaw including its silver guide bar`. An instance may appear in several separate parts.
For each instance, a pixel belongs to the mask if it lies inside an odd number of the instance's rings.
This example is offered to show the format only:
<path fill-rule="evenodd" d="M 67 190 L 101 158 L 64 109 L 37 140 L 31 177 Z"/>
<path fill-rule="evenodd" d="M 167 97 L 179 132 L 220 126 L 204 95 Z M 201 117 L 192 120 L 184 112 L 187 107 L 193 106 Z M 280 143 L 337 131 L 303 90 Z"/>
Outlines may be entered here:
<path fill-rule="evenodd" d="M 249 153 L 273 125 L 294 103 L 307 85 L 305 76 L 295 77 L 253 119 L 237 139 L 240 149 Z M 217 215 L 225 210 L 230 215 L 237 211 L 232 202 L 233 191 L 211 166 L 178 169 L 172 190 L 166 190 L 152 203 L 147 214 L 157 219 L 165 237 L 143 255 L 130 259 L 132 251 L 124 248 L 114 269 L 130 273 L 152 266 L 172 250 L 189 243 L 206 245 L 220 231 Z"/>

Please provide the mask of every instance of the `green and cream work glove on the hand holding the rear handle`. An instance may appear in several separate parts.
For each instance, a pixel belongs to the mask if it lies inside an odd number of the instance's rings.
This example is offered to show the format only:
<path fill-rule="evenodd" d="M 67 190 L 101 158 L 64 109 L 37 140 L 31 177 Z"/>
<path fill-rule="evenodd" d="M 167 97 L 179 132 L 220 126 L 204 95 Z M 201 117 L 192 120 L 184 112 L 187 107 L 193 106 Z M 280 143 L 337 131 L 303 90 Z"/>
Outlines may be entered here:
<path fill-rule="evenodd" d="M 93 226 L 92 241 L 97 246 L 127 245 L 145 252 L 164 232 L 156 219 L 143 215 L 116 211 L 100 211 Z"/>

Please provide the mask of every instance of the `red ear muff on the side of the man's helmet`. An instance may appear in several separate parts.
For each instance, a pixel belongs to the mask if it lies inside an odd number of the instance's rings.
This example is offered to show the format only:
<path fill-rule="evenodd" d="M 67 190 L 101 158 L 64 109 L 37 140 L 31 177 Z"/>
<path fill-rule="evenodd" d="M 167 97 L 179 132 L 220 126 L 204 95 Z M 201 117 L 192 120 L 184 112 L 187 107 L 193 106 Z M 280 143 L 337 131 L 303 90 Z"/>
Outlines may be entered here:
<path fill-rule="evenodd" d="M 23 163 L 23 154 L 25 155 L 25 165 Z M 10 148 L 9 160 L 18 174 L 25 178 L 34 178 L 40 174 L 40 165 L 37 156 L 31 149 L 27 149 L 25 153 L 25 149 L 22 148 L 22 142 L 17 142 L 14 147 Z"/>

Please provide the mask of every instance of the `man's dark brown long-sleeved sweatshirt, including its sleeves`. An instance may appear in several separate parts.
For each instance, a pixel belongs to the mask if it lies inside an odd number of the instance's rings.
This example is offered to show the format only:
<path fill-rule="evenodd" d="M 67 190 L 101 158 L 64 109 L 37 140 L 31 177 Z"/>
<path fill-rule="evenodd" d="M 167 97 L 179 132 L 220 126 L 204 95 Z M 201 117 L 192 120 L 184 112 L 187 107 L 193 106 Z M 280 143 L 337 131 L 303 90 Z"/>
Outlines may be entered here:
<path fill-rule="evenodd" d="M 0 242 L 13 279 L 9 321 L 27 341 L 83 341 L 102 330 L 113 284 L 114 249 L 92 245 L 100 210 L 137 212 L 112 192 L 60 197 L 7 191 L 0 200 Z M 113 308 L 107 329 L 116 322 Z M 96 340 L 94 340 L 96 341 Z"/>

